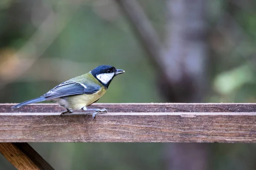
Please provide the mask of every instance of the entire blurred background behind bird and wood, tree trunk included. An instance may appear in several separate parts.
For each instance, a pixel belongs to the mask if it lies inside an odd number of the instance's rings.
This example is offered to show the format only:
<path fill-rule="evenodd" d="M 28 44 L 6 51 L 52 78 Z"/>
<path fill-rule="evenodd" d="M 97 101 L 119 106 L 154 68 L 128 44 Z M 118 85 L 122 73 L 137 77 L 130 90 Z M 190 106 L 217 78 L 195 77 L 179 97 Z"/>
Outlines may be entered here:
<path fill-rule="evenodd" d="M 126 73 L 99 102 L 256 102 L 256 1 L 0 0 L 0 103 L 102 64 Z M 31 145 L 56 170 L 256 169 L 256 144 Z"/>

